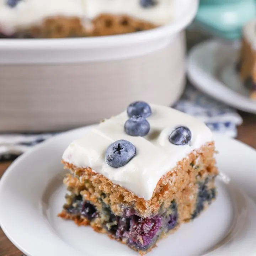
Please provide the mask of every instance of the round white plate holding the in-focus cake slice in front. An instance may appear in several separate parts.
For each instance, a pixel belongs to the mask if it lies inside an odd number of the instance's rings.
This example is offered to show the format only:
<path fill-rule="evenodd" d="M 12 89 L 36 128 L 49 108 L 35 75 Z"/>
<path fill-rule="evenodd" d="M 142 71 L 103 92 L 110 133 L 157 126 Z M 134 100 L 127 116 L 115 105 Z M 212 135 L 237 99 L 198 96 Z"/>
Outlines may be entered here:
<path fill-rule="evenodd" d="M 57 217 L 66 192 L 62 153 L 88 129 L 73 130 L 36 146 L 18 158 L 0 181 L 1 227 L 28 256 L 138 255 L 90 227 L 77 227 Z M 215 139 L 218 166 L 231 182 L 218 181 L 218 197 L 209 209 L 160 241 L 149 256 L 256 255 L 256 151 L 226 137 Z"/>

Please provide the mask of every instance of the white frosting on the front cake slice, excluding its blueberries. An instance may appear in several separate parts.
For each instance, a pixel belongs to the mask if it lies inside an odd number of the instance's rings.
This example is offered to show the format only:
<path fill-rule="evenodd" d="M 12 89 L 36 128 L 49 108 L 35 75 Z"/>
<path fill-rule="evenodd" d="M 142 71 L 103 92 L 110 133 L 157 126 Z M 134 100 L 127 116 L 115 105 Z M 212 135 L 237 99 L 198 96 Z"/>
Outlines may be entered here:
<path fill-rule="evenodd" d="M 123 112 L 71 143 L 63 160 L 77 167 L 91 167 L 113 183 L 149 200 L 164 174 L 191 151 L 212 140 L 212 132 L 198 119 L 169 107 L 151 105 L 151 108 L 150 132 L 145 137 L 132 137 L 124 132 L 128 116 Z M 177 126 L 187 126 L 191 130 L 190 145 L 177 146 L 169 142 L 169 135 Z M 133 143 L 137 153 L 128 164 L 116 169 L 106 163 L 105 151 L 112 142 L 120 139 Z"/>

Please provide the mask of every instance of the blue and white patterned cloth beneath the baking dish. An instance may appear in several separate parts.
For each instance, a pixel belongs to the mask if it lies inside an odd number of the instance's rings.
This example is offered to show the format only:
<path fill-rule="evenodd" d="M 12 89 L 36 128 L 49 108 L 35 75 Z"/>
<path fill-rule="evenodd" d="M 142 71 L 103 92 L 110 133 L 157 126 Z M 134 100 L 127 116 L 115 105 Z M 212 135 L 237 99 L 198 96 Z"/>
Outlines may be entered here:
<path fill-rule="evenodd" d="M 191 85 L 186 87 L 174 108 L 201 119 L 213 132 L 229 137 L 236 137 L 236 127 L 242 123 L 236 110 L 207 97 Z M 13 160 L 55 134 L 0 134 L 0 161 Z"/>

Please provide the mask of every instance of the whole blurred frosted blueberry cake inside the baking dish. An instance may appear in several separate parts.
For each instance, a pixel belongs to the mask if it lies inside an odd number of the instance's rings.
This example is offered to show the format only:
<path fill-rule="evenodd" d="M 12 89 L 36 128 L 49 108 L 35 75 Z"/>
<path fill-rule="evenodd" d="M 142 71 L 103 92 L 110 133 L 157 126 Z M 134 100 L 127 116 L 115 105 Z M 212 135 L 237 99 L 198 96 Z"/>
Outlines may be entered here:
<path fill-rule="evenodd" d="M 104 36 L 172 19 L 172 0 L 0 0 L 0 38 Z"/>

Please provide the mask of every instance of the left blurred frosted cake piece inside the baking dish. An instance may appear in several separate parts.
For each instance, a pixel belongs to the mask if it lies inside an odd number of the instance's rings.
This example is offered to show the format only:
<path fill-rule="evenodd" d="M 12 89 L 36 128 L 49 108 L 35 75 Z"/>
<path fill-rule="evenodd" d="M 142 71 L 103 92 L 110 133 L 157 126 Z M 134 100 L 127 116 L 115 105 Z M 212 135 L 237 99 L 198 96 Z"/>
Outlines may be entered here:
<path fill-rule="evenodd" d="M 81 0 L 0 0 L 2 38 L 84 35 Z"/>

